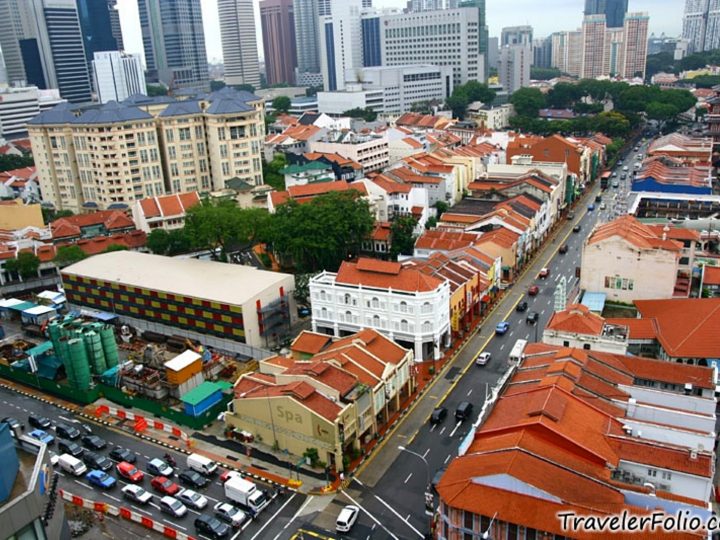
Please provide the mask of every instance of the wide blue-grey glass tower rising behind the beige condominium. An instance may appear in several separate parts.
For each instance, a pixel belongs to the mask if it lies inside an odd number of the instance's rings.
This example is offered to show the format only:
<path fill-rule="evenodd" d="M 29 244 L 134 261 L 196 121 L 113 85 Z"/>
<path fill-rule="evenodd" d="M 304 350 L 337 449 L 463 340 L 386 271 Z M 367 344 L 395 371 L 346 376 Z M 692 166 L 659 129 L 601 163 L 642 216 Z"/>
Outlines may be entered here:
<path fill-rule="evenodd" d="M 171 88 L 206 88 L 200 0 L 138 0 L 138 11 L 148 80 Z"/>

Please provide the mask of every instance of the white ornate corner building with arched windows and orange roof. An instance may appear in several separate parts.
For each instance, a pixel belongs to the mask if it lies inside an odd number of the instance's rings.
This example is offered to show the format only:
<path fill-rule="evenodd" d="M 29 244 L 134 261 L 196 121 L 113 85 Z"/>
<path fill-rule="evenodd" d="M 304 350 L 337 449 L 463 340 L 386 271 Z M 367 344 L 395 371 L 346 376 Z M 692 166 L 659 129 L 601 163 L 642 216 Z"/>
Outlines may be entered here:
<path fill-rule="evenodd" d="M 373 328 L 439 359 L 450 336 L 450 284 L 400 263 L 359 259 L 310 280 L 313 332 L 348 335 Z"/>

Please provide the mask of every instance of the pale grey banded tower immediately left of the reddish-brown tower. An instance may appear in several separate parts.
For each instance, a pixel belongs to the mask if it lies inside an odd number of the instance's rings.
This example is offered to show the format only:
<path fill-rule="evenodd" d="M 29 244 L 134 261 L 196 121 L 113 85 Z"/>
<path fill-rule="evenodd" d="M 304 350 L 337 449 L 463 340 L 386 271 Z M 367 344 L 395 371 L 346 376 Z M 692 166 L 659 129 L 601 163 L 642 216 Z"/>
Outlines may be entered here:
<path fill-rule="evenodd" d="M 255 40 L 252 0 L 218 0 L 225 82 L 260 88 L 260 64 Z"/>

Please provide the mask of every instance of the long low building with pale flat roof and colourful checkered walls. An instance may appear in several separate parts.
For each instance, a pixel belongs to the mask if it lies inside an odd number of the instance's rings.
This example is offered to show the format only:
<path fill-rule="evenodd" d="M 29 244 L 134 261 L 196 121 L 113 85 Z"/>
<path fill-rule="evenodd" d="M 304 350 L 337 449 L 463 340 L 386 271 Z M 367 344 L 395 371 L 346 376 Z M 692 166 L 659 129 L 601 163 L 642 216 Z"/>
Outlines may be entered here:
<path fill-rule="evenodd" d="M 117 251 L 64 268 L 62 280 L 73 306 L 253 357 L 286 339 L 296 313 L 294 276 L 236 264 Z"/>

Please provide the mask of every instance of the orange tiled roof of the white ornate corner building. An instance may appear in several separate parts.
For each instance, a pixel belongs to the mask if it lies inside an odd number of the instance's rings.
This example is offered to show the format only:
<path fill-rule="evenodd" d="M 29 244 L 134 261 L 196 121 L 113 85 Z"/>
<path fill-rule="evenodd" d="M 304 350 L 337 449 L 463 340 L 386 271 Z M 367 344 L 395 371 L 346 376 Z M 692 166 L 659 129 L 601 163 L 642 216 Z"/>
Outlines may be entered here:
<path fill-rule="evenodd" d="M 418 270 L 402 268 L 399 263 L 367 258 L 360 258 L 356 263 L 343 262 L 336 282 L 407 292 L 434 291 L 443 283 Z"/>

